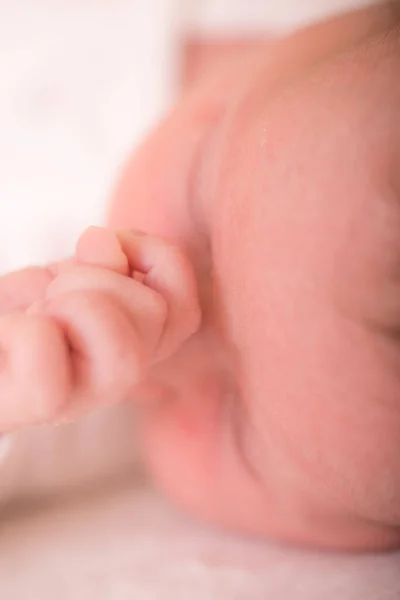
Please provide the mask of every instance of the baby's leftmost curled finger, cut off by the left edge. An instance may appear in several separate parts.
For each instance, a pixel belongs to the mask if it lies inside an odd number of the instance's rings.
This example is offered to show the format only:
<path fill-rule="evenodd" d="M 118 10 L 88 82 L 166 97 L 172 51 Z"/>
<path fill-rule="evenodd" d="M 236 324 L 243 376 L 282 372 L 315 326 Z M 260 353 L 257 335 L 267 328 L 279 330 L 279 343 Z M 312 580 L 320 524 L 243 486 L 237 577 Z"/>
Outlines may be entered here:
<path fill-rule="evenodd" d="M 51 421 L 70 392 L 68 348 L 56 324 L 39 315 L 0 318 L 0 431 Z"/>

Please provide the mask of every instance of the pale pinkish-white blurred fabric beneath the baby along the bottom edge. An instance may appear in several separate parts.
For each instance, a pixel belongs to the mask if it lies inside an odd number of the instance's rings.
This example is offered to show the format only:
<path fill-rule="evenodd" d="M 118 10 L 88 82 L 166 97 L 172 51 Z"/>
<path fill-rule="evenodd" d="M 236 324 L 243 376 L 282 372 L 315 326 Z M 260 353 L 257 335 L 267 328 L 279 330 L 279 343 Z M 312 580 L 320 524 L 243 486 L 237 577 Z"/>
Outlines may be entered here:
<path fill-rule="evenodd" d="M 339 557 L 239 541 L 144 487 L 2 524 L 7 600 L 397 600 L 400 555 Z"/>

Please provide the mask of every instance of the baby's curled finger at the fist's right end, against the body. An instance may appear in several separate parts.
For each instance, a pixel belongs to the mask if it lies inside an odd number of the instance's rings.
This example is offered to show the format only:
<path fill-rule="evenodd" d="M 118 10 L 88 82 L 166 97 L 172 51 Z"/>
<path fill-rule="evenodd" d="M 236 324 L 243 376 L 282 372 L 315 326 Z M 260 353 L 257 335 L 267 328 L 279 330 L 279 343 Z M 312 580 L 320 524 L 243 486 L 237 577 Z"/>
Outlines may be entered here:
<path fill-rule="evenodd" d="M 117 236 L 131 271 L 143 273 L 143 284 L 161 294 L 168 304 L 168 318 L 158 348 L 158 357 L 164 358 L 200 326 L 193 269 L 179 248 L 165 240 L 131 231 L 119 232 Z"/>

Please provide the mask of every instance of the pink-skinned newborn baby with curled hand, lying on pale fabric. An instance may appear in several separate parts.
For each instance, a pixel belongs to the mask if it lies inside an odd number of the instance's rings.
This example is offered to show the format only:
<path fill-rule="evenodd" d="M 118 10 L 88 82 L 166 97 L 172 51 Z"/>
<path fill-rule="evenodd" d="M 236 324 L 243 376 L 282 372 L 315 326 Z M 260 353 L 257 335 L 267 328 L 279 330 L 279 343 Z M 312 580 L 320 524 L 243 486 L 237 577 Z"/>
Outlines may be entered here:
<path fill-rule="evenodd" d="M 399 26 L 388 3 L 216 67 L 128 165 L 109 229 L 2 279 L 3 432 L 129 401 L 185 509 L 400 545 Z"/>

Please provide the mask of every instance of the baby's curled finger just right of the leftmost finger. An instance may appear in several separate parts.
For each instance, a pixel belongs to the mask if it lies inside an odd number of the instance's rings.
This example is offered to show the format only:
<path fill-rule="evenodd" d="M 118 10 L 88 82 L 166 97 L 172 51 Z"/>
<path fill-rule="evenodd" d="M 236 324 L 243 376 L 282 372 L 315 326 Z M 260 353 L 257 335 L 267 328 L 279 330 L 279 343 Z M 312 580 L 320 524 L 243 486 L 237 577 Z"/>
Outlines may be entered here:
<path fill-rule="evenodd" d="M 70 347 L 73 410 L 126 399 L 145 360 L 137 330 L 118 303 L 107 293 L 70 291 L 49 300 L 45 310 Z"/>

